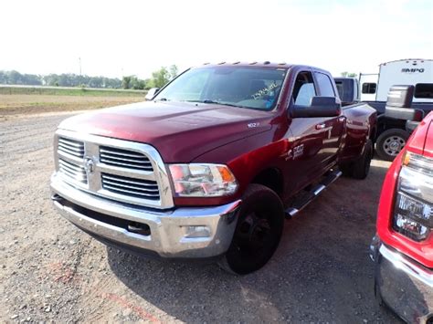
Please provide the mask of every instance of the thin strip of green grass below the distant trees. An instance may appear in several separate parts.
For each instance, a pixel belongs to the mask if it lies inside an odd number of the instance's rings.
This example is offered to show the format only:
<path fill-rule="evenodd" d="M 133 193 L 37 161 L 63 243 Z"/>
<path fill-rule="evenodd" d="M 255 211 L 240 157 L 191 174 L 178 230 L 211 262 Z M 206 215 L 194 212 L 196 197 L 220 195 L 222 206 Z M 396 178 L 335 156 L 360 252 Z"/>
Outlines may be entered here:
<path fill-rule="evenodd" d="M 146 90 L 86 89 L 56 87 L 8 87 L 0 86 L 1 95 L 48 95 L 48 96 L 90 96 L 90 97 L 144 97 Z"/>

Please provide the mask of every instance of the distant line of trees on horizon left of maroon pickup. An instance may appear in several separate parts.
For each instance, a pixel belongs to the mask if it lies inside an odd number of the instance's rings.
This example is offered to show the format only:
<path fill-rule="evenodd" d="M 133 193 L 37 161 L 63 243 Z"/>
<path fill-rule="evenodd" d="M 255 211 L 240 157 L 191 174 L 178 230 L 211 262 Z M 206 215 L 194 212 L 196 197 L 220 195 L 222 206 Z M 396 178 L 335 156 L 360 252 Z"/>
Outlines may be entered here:
<path fill-rule="evenodd" d="M 152 78 L 140 79 L 136 76 L 123 78 L 90 77 L 74 73 L 62 74 L 21 74 L 18 71 L 0 70 L 0 84 L 49 87 L 84 87 L 101 89 L 151 89 L 161 88 L 177 76 L 175 65 L 162 67 L 152 73 Z"/>

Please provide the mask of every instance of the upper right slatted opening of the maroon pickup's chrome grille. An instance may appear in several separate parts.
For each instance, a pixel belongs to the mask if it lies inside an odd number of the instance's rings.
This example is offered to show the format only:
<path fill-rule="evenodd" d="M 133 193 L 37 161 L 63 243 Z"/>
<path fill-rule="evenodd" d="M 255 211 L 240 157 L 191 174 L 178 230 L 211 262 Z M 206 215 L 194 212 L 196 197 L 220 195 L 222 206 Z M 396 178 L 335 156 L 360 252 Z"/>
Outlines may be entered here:
<path fill-rule="evenodd" d="M 121 168 L 153 172 L 152 163 L 142 153 L 109 146 L 100 147 L 100 162 Z"/>

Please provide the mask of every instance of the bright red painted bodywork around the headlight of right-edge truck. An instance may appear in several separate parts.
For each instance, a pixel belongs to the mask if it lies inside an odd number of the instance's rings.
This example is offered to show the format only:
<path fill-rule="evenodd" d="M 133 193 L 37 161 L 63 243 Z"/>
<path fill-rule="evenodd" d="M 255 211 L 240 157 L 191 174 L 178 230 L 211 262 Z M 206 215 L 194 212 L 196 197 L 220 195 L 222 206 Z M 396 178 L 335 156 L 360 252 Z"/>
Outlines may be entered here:
<path fill-rule="evenodd" d="M 433 131 L 430 126 L 432 120 L 433 112 L 430 112 L 407 141 L 407 151 L 433 157 L 431 154 Z M 425 148 L 428 150 L 425 150 Z M 404 153 L 405 151 L 400 152 L 386 173 L 377 214 L 377 233 L 386 245 L 395 247 L 397 250 L 417 260 L 417 262 L 425 267 L 433 268 L 433 235 L 431 233 L 427 240 L 415 242 L 405 235 L 396 233 L 392 229 L 391 222 L 394 212 L 396 183 L 402 166 Z"/>

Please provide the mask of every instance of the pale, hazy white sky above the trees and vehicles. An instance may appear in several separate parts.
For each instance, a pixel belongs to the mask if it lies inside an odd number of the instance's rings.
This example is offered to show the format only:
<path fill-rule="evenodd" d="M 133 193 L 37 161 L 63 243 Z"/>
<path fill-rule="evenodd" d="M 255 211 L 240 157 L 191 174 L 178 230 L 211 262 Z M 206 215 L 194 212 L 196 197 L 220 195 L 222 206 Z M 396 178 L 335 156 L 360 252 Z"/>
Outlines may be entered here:
<path fill-rule="evenodd" d="M 149 77 L 161 66 L 270 60 L 375 72 L 433 58 L 431 0 L 45 1 L 1 5 L 0 69 Z"/>

